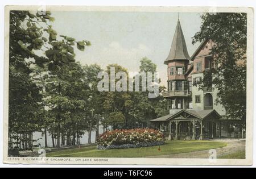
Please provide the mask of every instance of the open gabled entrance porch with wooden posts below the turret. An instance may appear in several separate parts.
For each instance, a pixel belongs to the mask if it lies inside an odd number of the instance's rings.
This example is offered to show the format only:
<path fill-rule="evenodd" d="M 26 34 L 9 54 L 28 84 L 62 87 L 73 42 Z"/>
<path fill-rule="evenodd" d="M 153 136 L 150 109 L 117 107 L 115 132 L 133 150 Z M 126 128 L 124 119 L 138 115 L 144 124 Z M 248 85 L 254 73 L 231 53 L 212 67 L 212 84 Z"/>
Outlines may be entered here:
<path fill-rule="evenodd" d="M 176 113 L 175 113 L 176 112 Z M 150 121 L 168 140 L 221 138 L 221 116 L 215 110 L 179 110 Z"/>

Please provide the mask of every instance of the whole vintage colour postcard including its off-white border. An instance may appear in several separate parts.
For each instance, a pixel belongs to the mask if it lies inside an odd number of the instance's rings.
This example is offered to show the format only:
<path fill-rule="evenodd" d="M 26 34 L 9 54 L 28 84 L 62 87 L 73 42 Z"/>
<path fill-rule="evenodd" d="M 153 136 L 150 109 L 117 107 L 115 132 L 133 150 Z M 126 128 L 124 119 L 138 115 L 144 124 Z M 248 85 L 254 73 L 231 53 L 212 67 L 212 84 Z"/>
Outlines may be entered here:
<path fill-rule="evenodd" d="M 4 163 L 251 165 L 250 7 L 6 6 Z"/>

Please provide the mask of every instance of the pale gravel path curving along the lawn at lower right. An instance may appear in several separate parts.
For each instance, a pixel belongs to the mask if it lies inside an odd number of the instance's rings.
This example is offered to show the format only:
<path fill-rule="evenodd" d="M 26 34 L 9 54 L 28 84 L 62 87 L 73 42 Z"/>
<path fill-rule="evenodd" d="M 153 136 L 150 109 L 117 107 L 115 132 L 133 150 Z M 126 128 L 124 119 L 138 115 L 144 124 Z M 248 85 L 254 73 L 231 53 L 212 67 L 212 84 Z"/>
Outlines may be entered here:
<path fill-rule="evenodd" d="M 217 158 L 222 155 L 227 155 L 237 151 L 245 150 L 245 139 L 213 139 L 210 141 L 221 141 L 228 143 L 226 147 L 217 148 L 216 154 Z M 189 153 L 178 153 L 172 155 L 160 155 L 160 156 L 149 156 L 148 158 L 187 158 L 187 159 L 208 159 L 212 153 L 209 153 L 209 150 L 196 151 Z"/>

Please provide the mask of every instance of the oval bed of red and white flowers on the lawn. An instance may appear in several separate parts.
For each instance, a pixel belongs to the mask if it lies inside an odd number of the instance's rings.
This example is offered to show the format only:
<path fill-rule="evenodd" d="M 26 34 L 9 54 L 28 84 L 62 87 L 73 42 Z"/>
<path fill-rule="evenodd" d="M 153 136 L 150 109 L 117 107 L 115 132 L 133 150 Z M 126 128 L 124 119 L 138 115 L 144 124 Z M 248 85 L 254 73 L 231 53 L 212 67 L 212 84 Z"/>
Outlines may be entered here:
<path fill-rule="evenodd" d="M 164 144 L 164 135 L 149 128 L 114 130 L 101 134 L 97 142 L 97 149 L 149 147 Z"/>

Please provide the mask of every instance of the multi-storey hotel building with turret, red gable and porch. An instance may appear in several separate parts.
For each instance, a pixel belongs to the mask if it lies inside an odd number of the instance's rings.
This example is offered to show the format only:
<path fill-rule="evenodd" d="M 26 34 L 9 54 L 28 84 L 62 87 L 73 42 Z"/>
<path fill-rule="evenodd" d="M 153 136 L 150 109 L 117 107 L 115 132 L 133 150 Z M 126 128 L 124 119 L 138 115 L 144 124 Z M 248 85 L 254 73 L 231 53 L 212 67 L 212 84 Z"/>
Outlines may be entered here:
<path fill-rule="evenodd" d="M 162 131 L 169 140 L 203 140 L 214 138 L 245 138 L 245 127 L 239 119 L 226 119 L 223 106 L 216 104 L 214 86 L 199 90 L 193 82 L 203 79 L 204 70 L 214 68 L 210 55 L 212 41 L 205 40 L 191 57 L 188 55 L 178 19 L 167 65 L 167 91 L 170 114 L 152 119 L 150 125 Z"/>

